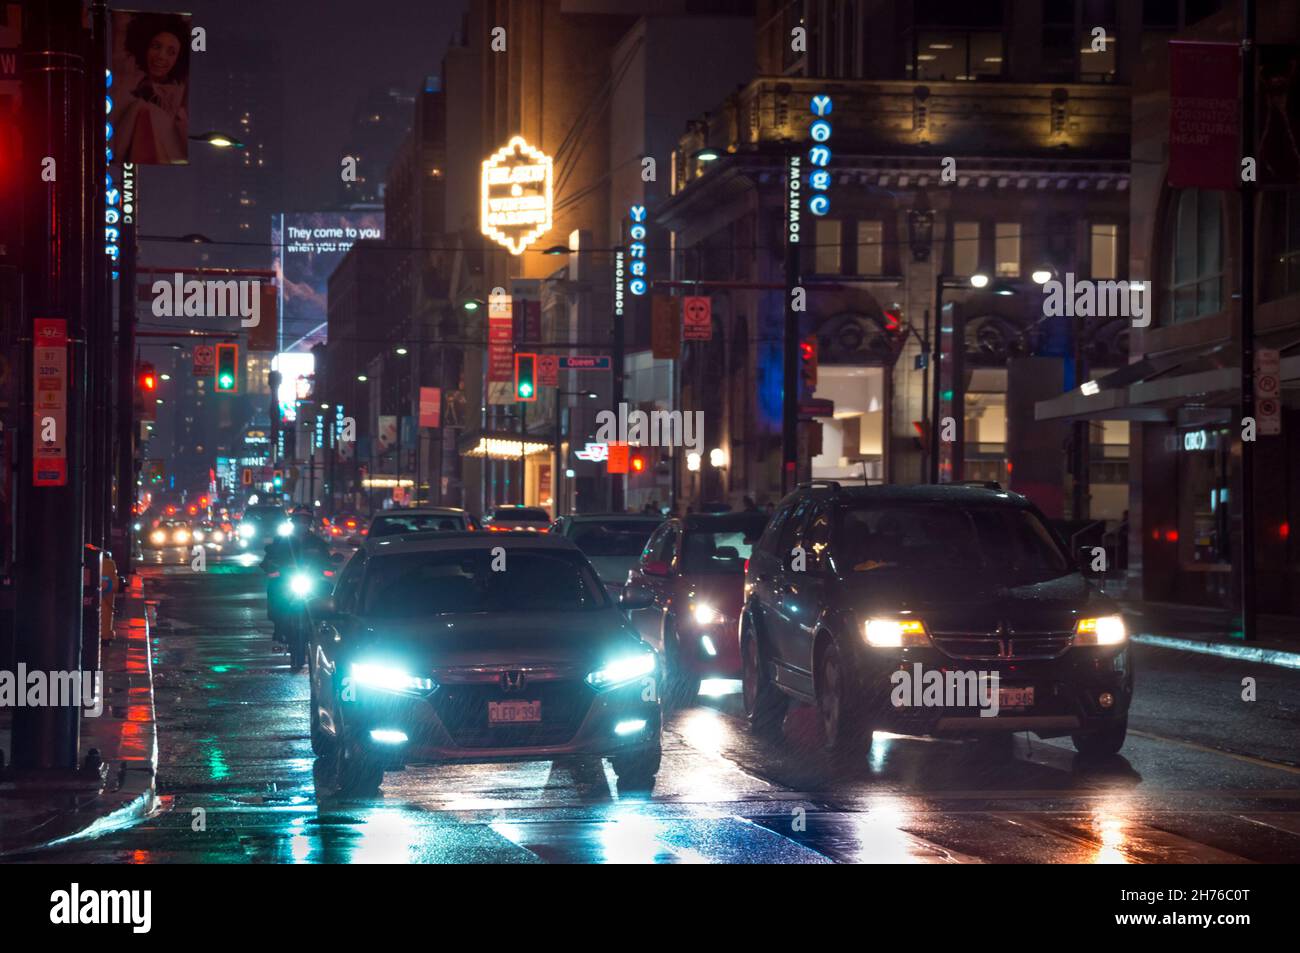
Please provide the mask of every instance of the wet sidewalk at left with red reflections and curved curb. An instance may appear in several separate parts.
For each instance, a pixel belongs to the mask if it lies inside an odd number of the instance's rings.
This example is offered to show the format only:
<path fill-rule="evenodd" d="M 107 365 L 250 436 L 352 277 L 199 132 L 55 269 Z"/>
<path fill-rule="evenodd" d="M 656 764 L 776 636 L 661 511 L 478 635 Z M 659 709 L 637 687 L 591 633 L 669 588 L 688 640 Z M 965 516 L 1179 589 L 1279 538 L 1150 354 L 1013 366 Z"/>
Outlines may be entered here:
<path fill-rule="evenodd" d="M 140 576 L 118 607 L 114 638 L 103 647 L 104 710 L 82 716 L 81 755 L 98 749 L 108 766 L 99 793 L 0 781 L 0 857 L 124 827 L 153 810 L 157 735 L 150 619 Z M 10 751 L 12 709 L 0 709 L 0 750 Z M 0 776 L 3 777 L 3 776 Z"/>

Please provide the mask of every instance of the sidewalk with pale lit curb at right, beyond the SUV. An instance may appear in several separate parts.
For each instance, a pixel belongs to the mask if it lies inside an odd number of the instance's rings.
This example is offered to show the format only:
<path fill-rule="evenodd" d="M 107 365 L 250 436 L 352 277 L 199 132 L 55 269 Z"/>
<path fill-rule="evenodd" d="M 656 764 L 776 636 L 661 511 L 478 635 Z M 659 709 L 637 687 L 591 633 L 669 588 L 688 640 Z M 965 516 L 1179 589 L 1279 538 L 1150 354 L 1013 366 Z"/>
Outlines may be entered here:
<path fill-rule="evenodd" d="M 1235 612 L 1173 602 L 1121 599 L 1132 641 L 1164 649 L 1300 668 L 1300 618 L 1260 615 L 1258 637 L 1242 640 Z"/>

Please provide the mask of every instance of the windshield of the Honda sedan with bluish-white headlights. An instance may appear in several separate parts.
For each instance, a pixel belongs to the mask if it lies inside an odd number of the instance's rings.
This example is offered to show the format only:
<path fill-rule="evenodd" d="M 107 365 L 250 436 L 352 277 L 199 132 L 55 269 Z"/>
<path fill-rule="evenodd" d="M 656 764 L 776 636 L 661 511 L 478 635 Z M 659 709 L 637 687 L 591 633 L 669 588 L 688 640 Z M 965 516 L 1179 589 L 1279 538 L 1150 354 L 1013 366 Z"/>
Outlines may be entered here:
<path fill-rule="evenodd" d="M 578 612 L 611 605 L 577 553 L 511 549 L 503 558 L 506 571 L 486 549 L 374 556 L 365 569 L 361 614 L 410 619 L 451 612 Z"/>

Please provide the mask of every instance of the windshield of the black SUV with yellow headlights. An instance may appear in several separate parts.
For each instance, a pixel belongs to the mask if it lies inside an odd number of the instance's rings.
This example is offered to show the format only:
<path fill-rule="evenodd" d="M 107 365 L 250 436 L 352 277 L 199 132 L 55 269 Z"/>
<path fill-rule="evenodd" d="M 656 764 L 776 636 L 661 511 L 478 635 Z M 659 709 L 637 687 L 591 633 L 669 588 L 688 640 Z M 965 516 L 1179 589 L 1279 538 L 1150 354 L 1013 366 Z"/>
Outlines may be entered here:
<path fill-rule="evenodd" d="M 1074 567 L 1034 512 L 952 503 L 852 504 L 835 553 L 848 572 L 998 572 L 1052 579 Z"/>

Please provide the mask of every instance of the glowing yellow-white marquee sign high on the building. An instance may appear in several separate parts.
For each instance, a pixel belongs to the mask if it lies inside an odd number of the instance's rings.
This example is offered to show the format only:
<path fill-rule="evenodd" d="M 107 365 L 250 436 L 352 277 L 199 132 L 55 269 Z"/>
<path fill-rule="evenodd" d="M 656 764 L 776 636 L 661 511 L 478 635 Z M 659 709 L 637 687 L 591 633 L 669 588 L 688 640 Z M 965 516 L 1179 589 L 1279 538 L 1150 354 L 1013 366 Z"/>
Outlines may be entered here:
<path fill-rule="evenodd" d="M 551 230 L 551 157 L 516 135 L 484 160 L 481 229 L 511 255 Z"/>

